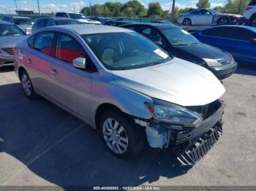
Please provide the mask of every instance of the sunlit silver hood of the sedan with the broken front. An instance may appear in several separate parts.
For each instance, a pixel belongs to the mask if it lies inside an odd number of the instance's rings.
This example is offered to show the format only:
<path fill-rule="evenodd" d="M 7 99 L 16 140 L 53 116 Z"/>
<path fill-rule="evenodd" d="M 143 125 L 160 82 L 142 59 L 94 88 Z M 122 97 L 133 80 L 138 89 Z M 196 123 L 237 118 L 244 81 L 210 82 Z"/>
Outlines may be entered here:
<path fill-rule="evenodd" d="M 112 73 L 119 85 L 181 106 L 206 105 L 225 93 L 211 71 L 179 58 L 157 66 Z"/>

